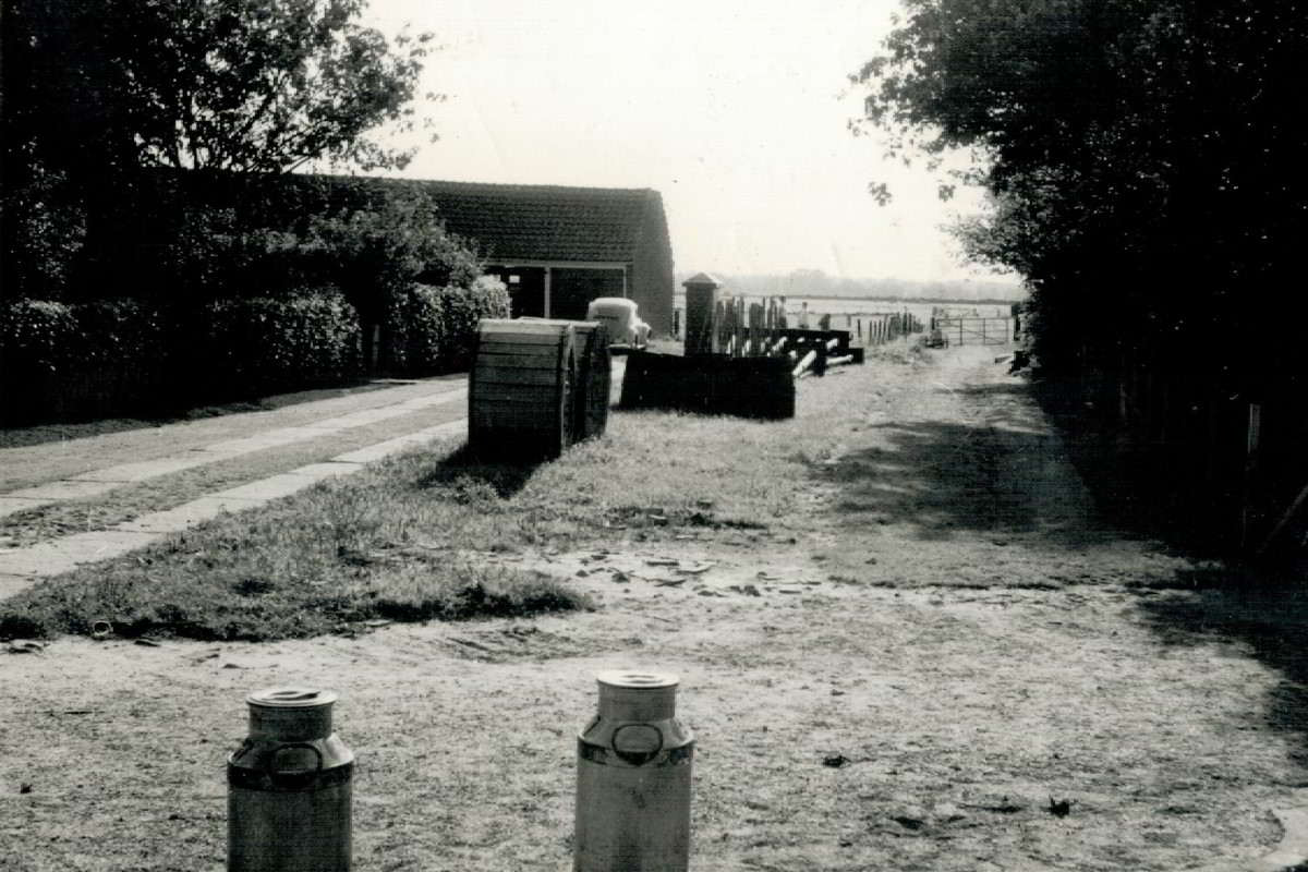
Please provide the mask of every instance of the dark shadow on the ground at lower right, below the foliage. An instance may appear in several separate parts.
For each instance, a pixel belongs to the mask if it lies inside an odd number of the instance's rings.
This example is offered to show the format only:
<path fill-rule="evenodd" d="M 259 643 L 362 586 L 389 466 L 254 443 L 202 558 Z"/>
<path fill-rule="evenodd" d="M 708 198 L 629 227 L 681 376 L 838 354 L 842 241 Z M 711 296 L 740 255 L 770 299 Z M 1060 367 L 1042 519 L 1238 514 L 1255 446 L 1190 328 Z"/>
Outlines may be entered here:
<path fill-rule="evenodd" d="M 1139 609 L 1164 645 L 1235 645 L 1275 669 L 1279 682 L 1249 719 L 1292 736 L 1291 760 L 1308 767 L 1308 587 L 1303 578 L 1301 571 L 1188 570 L 1142 591 Z M 1308 779 L 1292 786 L 1308 787 Z"/>

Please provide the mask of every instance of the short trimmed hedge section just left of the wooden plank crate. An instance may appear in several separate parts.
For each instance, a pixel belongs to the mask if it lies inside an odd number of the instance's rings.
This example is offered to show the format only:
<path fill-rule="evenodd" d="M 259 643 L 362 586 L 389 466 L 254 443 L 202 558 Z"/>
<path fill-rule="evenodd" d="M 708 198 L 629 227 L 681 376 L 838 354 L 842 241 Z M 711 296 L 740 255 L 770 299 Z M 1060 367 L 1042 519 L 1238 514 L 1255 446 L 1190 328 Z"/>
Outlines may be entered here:
<path fill-rule="evenodd" d="M 477 322 L 509 316 L 509 290 L 483 276 L 472 288 L 412 285 L 395 294 L 386 315 L 386 361 L 394 375 L 460 373 L 476 356 Z"/>

